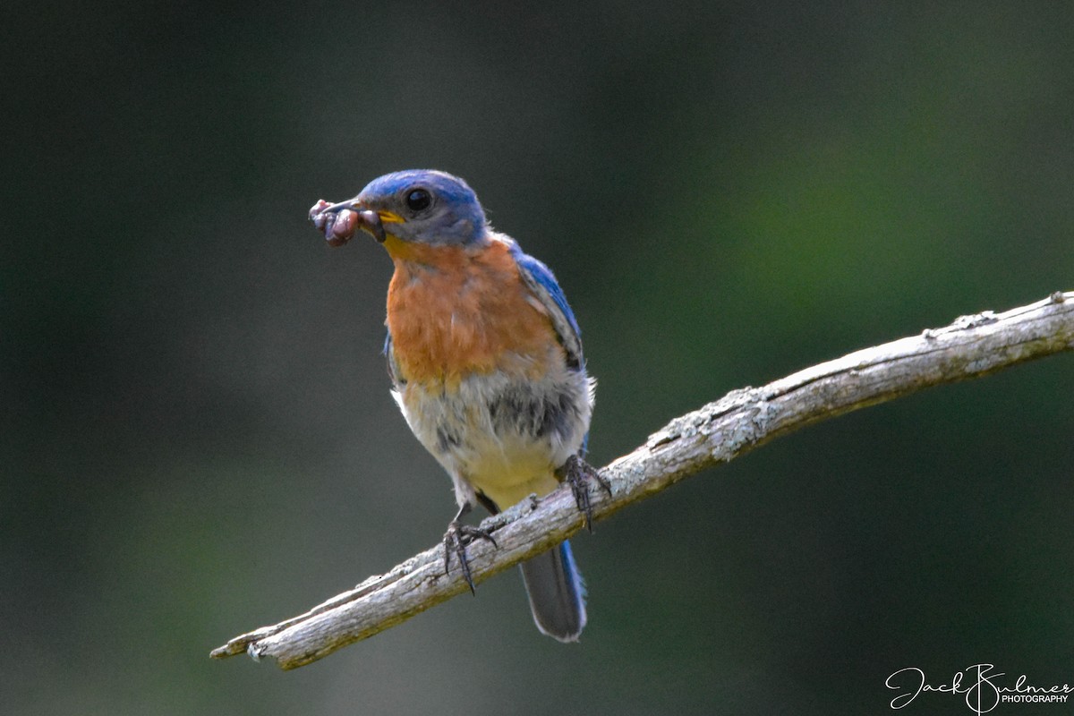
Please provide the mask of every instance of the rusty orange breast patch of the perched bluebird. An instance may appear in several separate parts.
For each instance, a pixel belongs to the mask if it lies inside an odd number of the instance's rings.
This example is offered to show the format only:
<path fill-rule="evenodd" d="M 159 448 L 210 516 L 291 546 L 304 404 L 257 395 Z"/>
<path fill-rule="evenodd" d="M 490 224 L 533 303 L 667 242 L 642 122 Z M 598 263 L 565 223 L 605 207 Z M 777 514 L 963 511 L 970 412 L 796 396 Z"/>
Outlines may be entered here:
<path fill-rule="evenodd" d="M 395 274 L 388 289 L 388 328 L 401 377 L 452 383 L 497 369 L 537 377 L 552 352 L 562 350 L 548 312 L 525 288 L 505 244 L 389 242 Z"/>

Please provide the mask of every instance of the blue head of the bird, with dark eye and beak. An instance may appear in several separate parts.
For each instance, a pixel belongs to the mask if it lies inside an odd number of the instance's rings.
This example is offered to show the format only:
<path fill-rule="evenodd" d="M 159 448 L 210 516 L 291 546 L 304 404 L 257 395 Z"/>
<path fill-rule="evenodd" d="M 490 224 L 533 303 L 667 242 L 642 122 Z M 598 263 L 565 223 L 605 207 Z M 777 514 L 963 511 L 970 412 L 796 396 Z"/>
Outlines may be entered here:
<path fill-rule="evenodd" d="M 407 170 L 374 179 L 350 207 L 375 211 L 384 233 L 404 242 L 464 245 L 485 235 L 484 210 L 469 186 L 434 170 Z"/>

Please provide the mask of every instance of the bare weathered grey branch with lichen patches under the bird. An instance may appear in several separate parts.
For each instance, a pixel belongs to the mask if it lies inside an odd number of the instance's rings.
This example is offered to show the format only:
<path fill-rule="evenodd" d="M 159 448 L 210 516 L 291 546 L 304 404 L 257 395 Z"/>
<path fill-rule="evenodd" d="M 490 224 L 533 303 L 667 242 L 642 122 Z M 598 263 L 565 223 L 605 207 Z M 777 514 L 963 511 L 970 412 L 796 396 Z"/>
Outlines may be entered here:
<path fill-rule="evenodd" d="M 1029 306 L 964 316 L 946 327 L 867 348 L 761 388 L 732 391 L 674 419 L 645 444 L 603 468 L 612 489 L 609 496 L 593 487 L 594 518 L 811 423 L 1072 349 L 1074 292 L 1056 292 Z M 570 537 L 583 520 L 564 487 L 482 524 L 493 531 L 498 547 L 483 540 L 469 546 L 475 582 Z M 458 569 L 444 573 L 444 553 L 437 545 L 305 614 L 235 637 L 212 656 L 246 652 L 294 669 L 466 590 Z"/>

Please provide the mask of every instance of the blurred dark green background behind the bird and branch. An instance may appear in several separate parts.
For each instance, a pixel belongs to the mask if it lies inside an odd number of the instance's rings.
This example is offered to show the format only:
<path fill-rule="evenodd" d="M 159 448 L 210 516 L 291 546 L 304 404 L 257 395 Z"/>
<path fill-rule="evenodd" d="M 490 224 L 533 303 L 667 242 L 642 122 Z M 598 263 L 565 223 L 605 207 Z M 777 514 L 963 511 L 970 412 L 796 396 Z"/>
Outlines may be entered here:
<path fill-rule="evenodd" d="M 731 389 L 1074 289 L 1070 3 L 807 4 L 10 10 L 4 710 L 881 714 L 903 667 L 1074 682 L 1070 355 L 599 524 L 578 645 L 510 573 L 295 672 L 208 659 L 454 509 L 389 396 L 390 262 L 326 248 L 318 198 L 466 177 L 570 297 L 596 464 Z"/>

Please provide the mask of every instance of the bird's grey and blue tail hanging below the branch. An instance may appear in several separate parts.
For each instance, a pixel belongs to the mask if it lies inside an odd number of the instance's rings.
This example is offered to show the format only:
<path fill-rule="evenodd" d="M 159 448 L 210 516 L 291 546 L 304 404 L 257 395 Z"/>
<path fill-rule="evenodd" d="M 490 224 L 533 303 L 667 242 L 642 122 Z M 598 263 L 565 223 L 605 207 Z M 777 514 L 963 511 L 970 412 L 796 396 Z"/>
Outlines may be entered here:
<path fill-rule="evenodd" d="M 585 626 L 585 586 L 570 543 L 563 542 L 521 567 L 537 628 L 562 642 L 578 641 Z"/>

